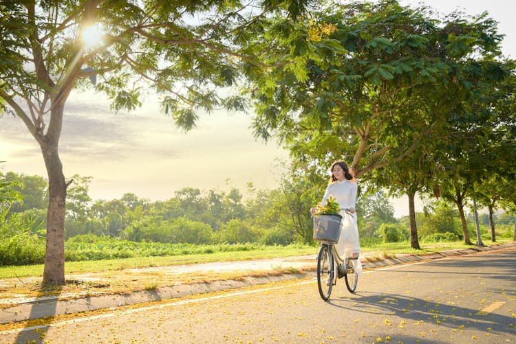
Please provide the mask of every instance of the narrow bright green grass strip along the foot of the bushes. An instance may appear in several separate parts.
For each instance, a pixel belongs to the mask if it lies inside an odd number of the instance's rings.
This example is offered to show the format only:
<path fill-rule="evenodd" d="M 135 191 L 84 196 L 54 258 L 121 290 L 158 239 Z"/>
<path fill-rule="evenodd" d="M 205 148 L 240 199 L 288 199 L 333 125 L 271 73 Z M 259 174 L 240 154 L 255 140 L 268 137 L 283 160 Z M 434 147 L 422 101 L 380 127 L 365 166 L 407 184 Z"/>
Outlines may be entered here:
<path fill-rule="evenodd" d="M 512 242 L 512 240 L 499 240 L 495 244 Z M 491 241 L 484 242 L 493 244 Z M 424 255 L 436 251 L 451 249 L 471 249 L 471 245 L 463 242 L 420 242 L 420 250 L 412 249 L 410 242 L 391 242 L 377 244 L 370 247 L 362 247 L 364 253 L 370 253 L 368 261 L 381 260 L 394 257 L 396 254 Z M 229 262 L 241 260 L 267 259 L 277 257 L 291 257 L 296 255 L 312 255 L 319 251 L 319 246 L 266 246 L 264 249 L 253 251 L 232 251 L 204 253 L 194 255 L 174 255 L 165 257 L 134 257 L 115 260 L 91 260 L 83 262 L 66 262 L 66 274 L 95 273 L 103 271 L 118 271 L 127 268 L 147 268 L 154 266 L 173 266 L 182 264 L 201 264 L 208 262 Z M 0 279 L 16 277 L 39 277 L 43 275 L 43 264 L 0 266 Z"/>

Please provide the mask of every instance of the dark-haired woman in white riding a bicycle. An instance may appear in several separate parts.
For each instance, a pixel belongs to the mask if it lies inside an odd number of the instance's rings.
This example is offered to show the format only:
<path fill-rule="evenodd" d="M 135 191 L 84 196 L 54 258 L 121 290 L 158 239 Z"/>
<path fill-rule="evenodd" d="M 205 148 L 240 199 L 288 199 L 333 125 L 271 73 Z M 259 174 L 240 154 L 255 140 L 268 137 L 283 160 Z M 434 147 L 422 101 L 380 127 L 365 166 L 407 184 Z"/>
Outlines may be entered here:
<path fill-rule="evenodd" d="M 355 271 L 362 273 L 362 264 L 360 262 L 360 242 L 358 240 L 358 226 L 356 224 L 356 179 L 350 174 L 350 169 L 344 161 L 335 161 L 330 168 L 332 176 L 330 183 L 326 187 L 321 206 L 325 206 L 326 200 L 333 196 L 341 209 L 349 209 L 351 214 L 341 210 L 342 231 L 338 242 L 335 244 L 337 254 L 341 258 L 352 257 L 352 264 Z M 310 211 L 315 214 L 315 209 Z"/>

